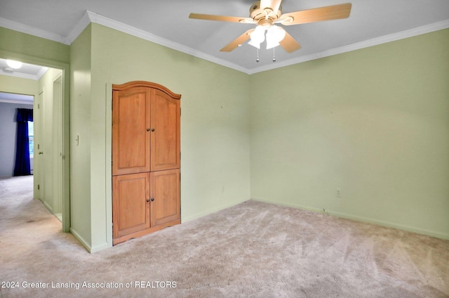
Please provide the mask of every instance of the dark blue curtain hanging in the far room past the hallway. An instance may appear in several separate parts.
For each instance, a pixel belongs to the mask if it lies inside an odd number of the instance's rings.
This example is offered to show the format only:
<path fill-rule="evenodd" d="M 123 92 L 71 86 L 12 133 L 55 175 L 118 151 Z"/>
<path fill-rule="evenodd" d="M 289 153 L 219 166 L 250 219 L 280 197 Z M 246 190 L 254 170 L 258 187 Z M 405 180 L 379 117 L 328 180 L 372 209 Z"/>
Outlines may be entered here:
<path fill-rule="evenodd" d="M 29 167 L 28 122 L 33 121 L 32 109 L 17 109 L 17 146 L 14 176 L 31 175 Z"/>

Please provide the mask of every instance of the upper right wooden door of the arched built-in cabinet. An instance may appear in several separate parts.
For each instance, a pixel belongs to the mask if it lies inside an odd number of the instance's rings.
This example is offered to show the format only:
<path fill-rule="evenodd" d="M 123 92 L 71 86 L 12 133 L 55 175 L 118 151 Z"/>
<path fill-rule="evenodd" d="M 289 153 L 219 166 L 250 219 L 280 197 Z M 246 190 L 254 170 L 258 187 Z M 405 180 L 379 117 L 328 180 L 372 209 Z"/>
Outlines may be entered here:
<path fill-rule="evenodd" d="M 180 167 L 180 101 L 154 90 L 151 107 L 151 171 Z M 153 131 L 154 129 L 154 131 Z"/>

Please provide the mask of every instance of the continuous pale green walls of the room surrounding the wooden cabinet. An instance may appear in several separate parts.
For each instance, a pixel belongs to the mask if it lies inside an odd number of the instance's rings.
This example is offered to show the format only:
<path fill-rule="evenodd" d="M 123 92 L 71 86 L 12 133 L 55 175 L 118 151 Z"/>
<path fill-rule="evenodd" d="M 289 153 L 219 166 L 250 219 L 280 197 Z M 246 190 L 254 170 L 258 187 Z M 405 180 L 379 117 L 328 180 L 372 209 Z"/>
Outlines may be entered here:
<path fill-rule="evenodd" d="M 97 24 L 0 40 L 70 63 L 70 227 L 91 252 L 112 243 L 111 88 L 133 80 L 182 94 L 183 222 L 253 197 L 449 238 L 449 30 L 251 76 Z"/>

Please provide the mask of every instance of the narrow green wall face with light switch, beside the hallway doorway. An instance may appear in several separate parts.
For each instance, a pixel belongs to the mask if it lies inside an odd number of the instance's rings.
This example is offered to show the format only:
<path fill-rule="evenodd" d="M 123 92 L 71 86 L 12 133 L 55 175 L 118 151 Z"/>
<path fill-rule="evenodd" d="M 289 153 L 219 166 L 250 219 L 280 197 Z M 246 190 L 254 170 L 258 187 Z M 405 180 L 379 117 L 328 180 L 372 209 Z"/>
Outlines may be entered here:
<path fill-rule="evenodd" d="M 91 247 L 91 26 L 70 46 L 70 70 L 70 231 Z"/>

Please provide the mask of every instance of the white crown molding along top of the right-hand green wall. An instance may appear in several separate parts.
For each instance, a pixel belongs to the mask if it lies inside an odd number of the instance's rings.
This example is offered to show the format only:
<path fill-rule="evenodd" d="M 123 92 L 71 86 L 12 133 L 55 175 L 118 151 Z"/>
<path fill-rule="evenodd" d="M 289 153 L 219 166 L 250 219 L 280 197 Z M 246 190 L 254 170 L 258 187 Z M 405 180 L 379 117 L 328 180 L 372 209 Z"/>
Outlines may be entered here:
<path fill-rule="evenodd" d="M 433 24 L 416 27 L 414 29 L 405 30 L 405 31 L 401 31 L 401 32 L 393 33 L 393 34 L 388 34 L 388 35 L 384 35 L 382 37 L 377 37 L 374 39 L 368 39 L 366 41 L 357 42 L 355 44 L 349 44 L 347 46 L 340 46 L 339 48 L 331 48 L 327 51 L 322 51 L 320 53 L 314 53 L 314 54 L 307 55 L 307 56 L 301 56 L 301 57 L 290 59 L 290 60 L 276 62 L 275 65 L 265 65 L 262 67 L 253 68 L 253 69 L 249 70 L 247 73 L 255 74 L 257 72 L 274 70 L 279 67 L 286 67 L 286 66 L 290 66 L 290 65 L 295 65 L 297 63 L 307 62 L 310 60 L 316 60 L 319 58 L 334 56 L 334 55 L 341 54 L 341 53 L 356 51 L 361 48 L 368 48 L 370 46 L 387 44 L 388 42 L 391 42 L 391 41 L 406 39 L 408 37 L 415 37 L 417 35 L 426 34 L 426 33 L 443 30 L 443 29 L 447 29 L 447 28 L 449 28 L 449 20 L 443 20 L 441 22 L 435 22 Z"/>

